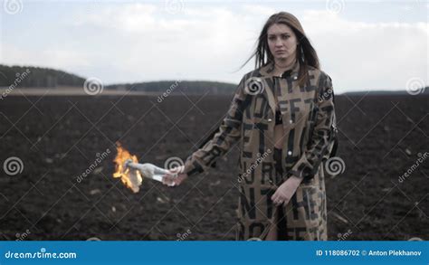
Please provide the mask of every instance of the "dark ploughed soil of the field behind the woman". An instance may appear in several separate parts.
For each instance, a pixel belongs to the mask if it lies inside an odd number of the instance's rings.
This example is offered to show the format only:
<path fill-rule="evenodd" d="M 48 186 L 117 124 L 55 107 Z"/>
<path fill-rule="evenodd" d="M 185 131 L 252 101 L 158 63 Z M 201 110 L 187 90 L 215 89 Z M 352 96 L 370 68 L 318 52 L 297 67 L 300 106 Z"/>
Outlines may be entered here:
<path fill-rule="evenodd" d="M 234 240 L 238 147 L 174 188 L 112 177 L 115 142 L 140 162 L 186 159 L 231 97 L 14 97 L 0 104 L 1 240 Z M 329 240 L 429 239 L 428 96 L 336 96 L 342 175 L 327 179 Z M 95 159 L 110 155 L 80 178 Z"/>

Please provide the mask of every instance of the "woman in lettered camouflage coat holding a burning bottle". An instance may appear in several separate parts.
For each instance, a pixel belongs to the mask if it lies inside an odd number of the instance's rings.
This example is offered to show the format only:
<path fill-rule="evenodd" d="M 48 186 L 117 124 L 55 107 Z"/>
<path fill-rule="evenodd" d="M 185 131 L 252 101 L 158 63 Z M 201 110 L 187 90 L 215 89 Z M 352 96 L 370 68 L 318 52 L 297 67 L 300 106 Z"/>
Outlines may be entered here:
<path fill-rule="evenodd" d="M 218 131 L 165 183 L 180 185 L 239 144 L 236 239 L 327 240 L 321 162 L 337 131 L 331 79 L 289 13 L 272 14 L 253 56 L 256 69 L 243 76 Z"/>

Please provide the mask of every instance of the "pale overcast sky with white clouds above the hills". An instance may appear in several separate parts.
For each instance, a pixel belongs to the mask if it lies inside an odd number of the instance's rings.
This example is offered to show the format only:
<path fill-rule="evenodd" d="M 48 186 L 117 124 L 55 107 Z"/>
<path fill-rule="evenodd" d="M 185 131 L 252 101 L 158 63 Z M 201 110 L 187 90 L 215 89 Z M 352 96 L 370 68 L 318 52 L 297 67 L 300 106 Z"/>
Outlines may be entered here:
<path fill-rule="evenodd" d="M 271 14 L 295 14 L 338 93 L 428 84 L 428 12 L 409 1 L 4 0 L 0 63 L 69 71 L 105 84 L 238 83 Z"/>

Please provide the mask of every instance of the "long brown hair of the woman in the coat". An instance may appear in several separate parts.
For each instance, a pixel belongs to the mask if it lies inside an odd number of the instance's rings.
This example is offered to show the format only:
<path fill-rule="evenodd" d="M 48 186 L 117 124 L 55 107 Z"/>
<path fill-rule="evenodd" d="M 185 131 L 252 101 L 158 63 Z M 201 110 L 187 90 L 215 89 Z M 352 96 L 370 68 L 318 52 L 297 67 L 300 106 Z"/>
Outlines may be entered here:
<path fill-rule="evenodd" d="M 263 25 L 262 32 L 258 38 L 256 50 L 253 52 L 252 56 L 243 63 L 243 66 L 254 56 L 256 57 L 255 69 L 269 62 L 274 62 L 274 56 L 272 56 L 272 52 L 270 52 L 267 40 L 268 28 L 270 28 L 272 24 L 286 24 L 291 27 L 293 33 L 295 33 L 297 40 L 300 43 L 298 44 L 296 52 L 297 60 L 300 62 L 298 81 L 300 86 L 305 85 L 308 80 L 309 66 L 320 69 L 319 57 L 316 50 L 314 50 L 313 46 L 311 45 L 309 38 L 307 38 L 307 35 L 304 33 L 304 29 L 302 29 L 298 18 L 287 12 L 280 12 L 270 16 L 267 22 Z"/>

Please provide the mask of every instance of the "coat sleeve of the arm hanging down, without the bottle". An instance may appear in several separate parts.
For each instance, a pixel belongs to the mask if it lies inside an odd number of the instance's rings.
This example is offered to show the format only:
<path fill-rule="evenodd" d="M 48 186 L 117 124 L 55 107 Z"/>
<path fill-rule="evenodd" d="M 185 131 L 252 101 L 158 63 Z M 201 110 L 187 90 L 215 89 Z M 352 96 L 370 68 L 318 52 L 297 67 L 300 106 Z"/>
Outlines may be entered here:
<path fill-rule="evenodd" d="M 319 95 L 316 99 L 318 114 L 310 142 L 297 163 L 291 168 L 291 175 L 311 179 L 317 174 L 320 163 L 329 157 L 336 132 L 334 90 L 329 75 L 323 73 L 319 81 Z"/>

